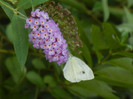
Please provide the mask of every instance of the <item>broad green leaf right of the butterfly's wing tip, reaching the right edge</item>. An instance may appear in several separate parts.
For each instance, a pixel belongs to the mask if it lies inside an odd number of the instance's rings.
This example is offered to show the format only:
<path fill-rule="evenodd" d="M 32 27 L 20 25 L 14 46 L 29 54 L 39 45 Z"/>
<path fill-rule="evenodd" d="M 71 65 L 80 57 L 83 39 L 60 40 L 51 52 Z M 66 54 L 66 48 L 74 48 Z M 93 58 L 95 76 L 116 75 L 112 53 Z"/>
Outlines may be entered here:
<path fill-rule="evenodd" d="M 133 88 L 133 74 L 120 67 L 106 67 L 95 72 L 99 79 L 115 86 Z"/>

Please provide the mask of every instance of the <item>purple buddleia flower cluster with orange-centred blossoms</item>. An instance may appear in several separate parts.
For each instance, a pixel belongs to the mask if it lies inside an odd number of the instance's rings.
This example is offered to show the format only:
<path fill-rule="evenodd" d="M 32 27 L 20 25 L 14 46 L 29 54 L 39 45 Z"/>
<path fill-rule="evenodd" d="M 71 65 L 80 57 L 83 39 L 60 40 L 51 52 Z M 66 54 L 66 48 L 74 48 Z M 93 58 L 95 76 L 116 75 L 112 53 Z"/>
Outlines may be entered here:
<path fill-rule="evenodd" d="M 49 62 L 63 64 L 68 59 L 66 40 L 58 24 L 45 11 L 31 11 L 31 17 L 26 20 L 25 28 L 30 28 L 29 41 L 36 49 L 42 49 Z"/>

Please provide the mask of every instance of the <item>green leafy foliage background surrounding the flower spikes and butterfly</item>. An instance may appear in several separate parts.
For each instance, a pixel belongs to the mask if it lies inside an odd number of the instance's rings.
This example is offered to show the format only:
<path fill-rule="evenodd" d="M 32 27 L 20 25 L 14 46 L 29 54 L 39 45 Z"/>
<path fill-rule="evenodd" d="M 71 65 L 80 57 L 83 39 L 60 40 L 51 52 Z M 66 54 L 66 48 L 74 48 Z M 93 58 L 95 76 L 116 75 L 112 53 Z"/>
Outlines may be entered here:
<path fill-rule="evenodd" d="M 0 99 L 132 99 L 133 0 L 54 0 L 77 22 L 82 46 L 71 53 L 95 74 L 95 79 L 79 83 L 66 81 L 64 65 L 49 63 L 28 43 L 26 18 L 46 1 L 0 0 Z M 57 10 L 49 8 L 49 13 L 51 9 Z M 69 38 L 67 42 L 76 36 Z"/>

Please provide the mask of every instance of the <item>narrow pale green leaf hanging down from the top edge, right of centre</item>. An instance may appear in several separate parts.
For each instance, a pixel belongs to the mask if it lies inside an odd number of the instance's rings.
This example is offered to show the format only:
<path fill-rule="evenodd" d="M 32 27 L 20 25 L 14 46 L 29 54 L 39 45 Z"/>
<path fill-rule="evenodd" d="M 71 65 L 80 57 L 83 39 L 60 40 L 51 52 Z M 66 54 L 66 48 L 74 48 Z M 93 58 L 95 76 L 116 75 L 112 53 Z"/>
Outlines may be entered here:
<path fill-rule="evenodd" d="M 104 12 L 104 21 L 107 21 L 109 18 L 109 8 L 108 8 L 108 0 L 102 0 L 102 7 Z"/>

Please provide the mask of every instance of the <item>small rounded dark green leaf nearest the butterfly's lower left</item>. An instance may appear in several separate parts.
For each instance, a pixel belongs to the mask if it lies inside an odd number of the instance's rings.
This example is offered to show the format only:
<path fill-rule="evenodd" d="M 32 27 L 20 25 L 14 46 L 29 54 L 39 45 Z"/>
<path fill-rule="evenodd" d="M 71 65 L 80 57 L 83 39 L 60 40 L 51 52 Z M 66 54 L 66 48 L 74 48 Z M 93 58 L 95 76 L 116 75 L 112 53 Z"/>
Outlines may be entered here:
<path fill-rule="evenodd" d="M 50 75 L 44 76 L 43 81 L 45 84 L 48 84 L 50 87 L 56 87 L 57 86 L 55 79 Z"/>

